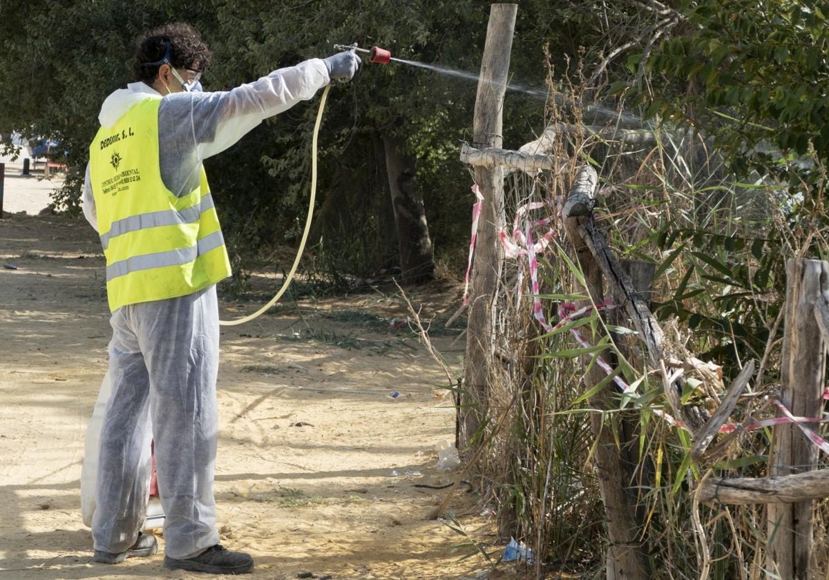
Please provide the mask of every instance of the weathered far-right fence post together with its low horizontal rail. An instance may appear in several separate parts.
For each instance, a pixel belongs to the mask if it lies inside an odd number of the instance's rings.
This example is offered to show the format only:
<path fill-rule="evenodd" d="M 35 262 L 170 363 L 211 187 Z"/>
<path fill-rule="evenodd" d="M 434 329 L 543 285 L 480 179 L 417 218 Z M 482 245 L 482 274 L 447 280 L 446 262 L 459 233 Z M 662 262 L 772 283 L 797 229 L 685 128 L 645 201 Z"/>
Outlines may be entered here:
<path fill-rule="evenodd" d="M 820 418 L 829 345 L 829 263 L 788 260 L 785 317 L 780 403 L 794 417 Z M 814 431 L 814 423 L 801 426 Z M 815 471 L 817 446 L 802 428 L 794 423 L 773 428 L 768 477 L 709 477 L 696 491 L 697 499 L 709 504 L 768 504 L 769 577 L 807 580 L 817 573 L 813 500 L 829 495 L 829 470 Z M 820 442 L 817 434 L 813 437 Z"/>

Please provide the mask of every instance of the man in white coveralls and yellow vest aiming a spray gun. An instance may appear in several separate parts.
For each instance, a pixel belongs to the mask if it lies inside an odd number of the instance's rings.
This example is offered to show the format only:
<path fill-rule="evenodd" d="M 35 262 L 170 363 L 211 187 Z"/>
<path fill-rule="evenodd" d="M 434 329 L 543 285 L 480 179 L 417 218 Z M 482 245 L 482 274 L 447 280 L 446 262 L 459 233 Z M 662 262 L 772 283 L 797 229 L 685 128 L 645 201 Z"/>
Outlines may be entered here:
<path fill-rule="evenodd" d="M 350 80 L 360 60 L 345 51 L 229 91 L 192 90 L 210 61 L 187 24 L 145 32 L 136 82 L 104 100 L 90 145 L 83 209 L 104 247 L 113 329 L 91 525 L 99 563 L 158 551 L 155 536 L 140 532 L 154 441 L 164 567 L 254 568 L 216 531 L 216 283 L 230 263 L 202 161 L 332 80 Z"/>

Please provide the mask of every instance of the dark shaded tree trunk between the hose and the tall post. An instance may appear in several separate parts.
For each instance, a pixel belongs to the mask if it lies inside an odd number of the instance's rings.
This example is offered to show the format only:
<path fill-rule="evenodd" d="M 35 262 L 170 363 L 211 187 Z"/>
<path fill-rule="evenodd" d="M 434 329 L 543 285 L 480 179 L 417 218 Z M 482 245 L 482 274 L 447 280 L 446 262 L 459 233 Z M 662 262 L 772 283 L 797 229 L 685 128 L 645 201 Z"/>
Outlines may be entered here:
<path fill-rule="evenodd" d="M 389 173 L 391 204 L 395 210 L 400 269 L 404 285 L 434 278 L 434 256 L 423 197 L 414 173 L 414 157 L 406 155 L 403 138 L 384 137 L 385 167 Z"/>

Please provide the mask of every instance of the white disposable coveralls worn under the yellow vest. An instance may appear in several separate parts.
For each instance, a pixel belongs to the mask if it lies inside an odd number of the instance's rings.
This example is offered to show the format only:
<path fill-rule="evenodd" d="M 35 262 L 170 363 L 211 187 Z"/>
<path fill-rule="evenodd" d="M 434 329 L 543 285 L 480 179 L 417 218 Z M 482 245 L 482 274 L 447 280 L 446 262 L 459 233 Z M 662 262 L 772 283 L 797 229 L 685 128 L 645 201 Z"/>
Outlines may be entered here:
<path fill-rule="evenodd" d="M 325 64 L 311 59 L 226 92 L 162 96 L 148 85 L 133 83 L 104 100 L 99 121 L 112 126 L 141 99 L 162 99 L 162 181 L 183 196 L 198 184 L 202 160 L 224 151 L 265 118 L 311 99 L 328 82 Z M 88 167 L 83 210 L 98 230 Z M 110 325 L 113 390 L 100 433 L 94 547 L 120 553 L 137 539 L 146 517 L 148 455 L 154 439 L 165 553 L 176 559 L 195 557 L 219 542 L 213 497 L 218 439 L 216 287 L 121 307 L 113 312 Z"/>

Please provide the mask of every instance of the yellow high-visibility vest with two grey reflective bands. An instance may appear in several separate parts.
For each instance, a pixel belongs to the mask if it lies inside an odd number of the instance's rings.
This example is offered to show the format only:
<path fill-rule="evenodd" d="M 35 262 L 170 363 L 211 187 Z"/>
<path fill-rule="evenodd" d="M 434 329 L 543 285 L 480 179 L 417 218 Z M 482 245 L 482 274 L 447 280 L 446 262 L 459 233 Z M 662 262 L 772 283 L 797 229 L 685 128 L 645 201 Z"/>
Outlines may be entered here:
<path fill-rule="evenodd" d="M 187 296 L 230 276 L 204 168 L 177 197 L 158 165 L 158 105 L 133 105 L 90 145 L 90 180 L 106 257 L 109 309 Z"/>

